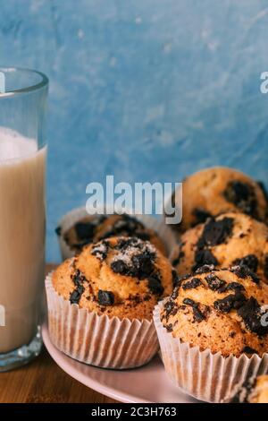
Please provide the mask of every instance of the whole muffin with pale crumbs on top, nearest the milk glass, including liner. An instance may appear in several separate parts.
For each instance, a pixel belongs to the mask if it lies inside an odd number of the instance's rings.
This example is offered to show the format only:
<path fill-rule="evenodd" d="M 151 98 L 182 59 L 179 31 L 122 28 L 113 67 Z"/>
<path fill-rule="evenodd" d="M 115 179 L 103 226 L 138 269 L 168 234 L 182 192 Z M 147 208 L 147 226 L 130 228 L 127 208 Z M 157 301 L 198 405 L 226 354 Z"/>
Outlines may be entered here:
<path fill-rule="evenodd" d="M 146 364 L 158 349 L 153 310 L 173 276 L 163 254 L 137 237 L 86 245 L 46 279 L 50 338 L 87 364 Z"/>

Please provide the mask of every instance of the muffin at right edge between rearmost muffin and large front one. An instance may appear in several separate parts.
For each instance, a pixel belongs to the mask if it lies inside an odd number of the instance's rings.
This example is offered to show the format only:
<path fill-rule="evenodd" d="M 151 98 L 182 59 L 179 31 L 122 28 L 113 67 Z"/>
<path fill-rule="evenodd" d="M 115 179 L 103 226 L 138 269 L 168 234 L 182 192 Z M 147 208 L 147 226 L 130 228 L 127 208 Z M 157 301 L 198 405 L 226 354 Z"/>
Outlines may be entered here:
<path fill-rule="evenodd" d="M 268 282 L 268 228 L 243 213 L 224 213 L 188 229 L 172 253 L 180 275 L 204 264 L 228 268 L 246 265 Z"/>

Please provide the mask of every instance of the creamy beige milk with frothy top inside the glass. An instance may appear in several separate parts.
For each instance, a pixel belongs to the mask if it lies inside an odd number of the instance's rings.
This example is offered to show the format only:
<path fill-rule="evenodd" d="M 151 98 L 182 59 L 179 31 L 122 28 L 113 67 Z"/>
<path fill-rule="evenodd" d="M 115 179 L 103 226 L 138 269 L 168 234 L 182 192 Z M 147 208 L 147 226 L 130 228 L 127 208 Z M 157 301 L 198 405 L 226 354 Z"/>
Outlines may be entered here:
<path fill-rule="evenodd" d="M 0 353 L 28 344 L 37 331 L 45 269 L 45 168 L 46 148 L 38 150 L 34 140 L 0 127 Z"/>

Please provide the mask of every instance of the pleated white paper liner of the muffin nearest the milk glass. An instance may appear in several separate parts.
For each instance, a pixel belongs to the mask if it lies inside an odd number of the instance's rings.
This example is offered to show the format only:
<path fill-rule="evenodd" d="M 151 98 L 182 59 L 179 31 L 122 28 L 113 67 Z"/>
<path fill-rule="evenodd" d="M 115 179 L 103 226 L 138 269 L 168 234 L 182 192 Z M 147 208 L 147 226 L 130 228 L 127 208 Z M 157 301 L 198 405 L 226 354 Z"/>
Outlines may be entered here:
<path fill-rule="evenodd" d="M 46 276 L 49 336 L 54 346 L 82 363 L 105 368 L 145 365 L 159 349 L 153 320 L 109 318 L 71 305 Z"/>

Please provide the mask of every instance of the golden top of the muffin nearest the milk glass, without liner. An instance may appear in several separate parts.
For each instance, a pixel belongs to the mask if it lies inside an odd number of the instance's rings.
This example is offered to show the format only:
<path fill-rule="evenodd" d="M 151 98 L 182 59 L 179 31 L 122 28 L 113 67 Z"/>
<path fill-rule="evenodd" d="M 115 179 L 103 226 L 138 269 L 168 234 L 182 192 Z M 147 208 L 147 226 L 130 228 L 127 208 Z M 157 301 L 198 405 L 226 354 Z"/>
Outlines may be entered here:
<path fill-rule="evenodd" d="M 53 273 L 57 293 L 90 312 L 151 320 L 157 301 L 172 292 L 172 266 L 154 245 L 111 237 L 86 245 Z"/>

